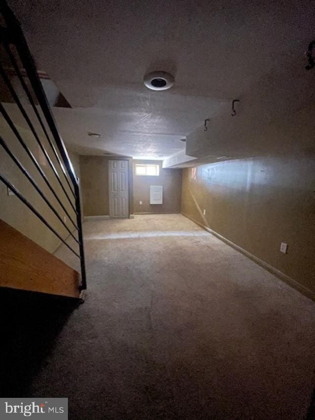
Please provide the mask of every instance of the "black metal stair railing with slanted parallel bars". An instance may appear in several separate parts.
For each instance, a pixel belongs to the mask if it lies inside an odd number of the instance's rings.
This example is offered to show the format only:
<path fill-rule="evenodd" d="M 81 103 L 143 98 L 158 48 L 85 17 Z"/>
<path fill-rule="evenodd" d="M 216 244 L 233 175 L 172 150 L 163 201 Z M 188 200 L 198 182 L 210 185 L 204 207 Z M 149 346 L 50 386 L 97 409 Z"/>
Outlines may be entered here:
<path fill-rule="evenodd" d="M 41 164 L 32 153 L 28 143 L 24 140 L 21 130 L 19 130 L 15 124 L 14 117 L 10 117 L 5 106 L 6 100 L 2 100 L 1 97 L 0 115 L 2 115 L 8 129 L 10 129 L 11 133 L 18 141 L 19 146 L 27 153 L 30 161 L 36 168 L 40 179 L 44 181 L 45 186 L 60 205 L 64 214 L 68 217 L 71 222 L 71 228 L 67 226 L 62 216 L 58 213 L 56 206 L 54 206 L 52 201 L 44 194 L 35 178 L 10 149 L 9 142 L 3 138 L 5 136 L 2 135 L 2 133 L 0 133 L 0 145 L 19 171 L 31 183 L 32 187 L 44 200 L 49 209 L 54 213 L 55 217 L 66 229 L 67 233 L 71 235 L 75 244 L 78 246 L 78 252 L 67 243 L 63 236 L 51 226 L 34 205 L 28 201 L 23 195 L 23 192 L 19 191 L 3 173 L 0 173 L 0 180 L 60 239 L 61 242 L 63 242 L 68 249 L 71 250 L 71 252 L 73 252 L 74 255 L 80 258 L 80 289 L 84 290 L 86 289 L 86 272 L 78 179 L 76 178 L 67 150 L 57 129 L 21 26 L 4 0 L 0 0 L 0 13 L 0 86 L 2 89 L 5 89 L 6 95 L 10 96 L 9 102 L 14 103 L 15 109 L 18 109 L 20 115 L 22 115 L 26 127 L 32 133 L 33 141 L 37 144 L 43 154 L 50 167 L 50 174 L 53 174 L 53 179 L 57 181 L 62 194 L 58 194 L 57 189 L 54 188 L 54 183 L 42 169 Z M 21 100 L 20 98 L 20 91 L 17 92 L 15 84 L 11 82 L 10 76 L 12 76 L 12 74 L 14 74 L 15 78 L 18 80 L 19 88 L 22 89 L 23 96 L 28 100 L 27 106 L 24 105 L 25 100 Z M 30 110 L 33 112 L 32 115 L 35 116 L 35 122 L 30 116 Z M 47 143 L 48 147 L 45 147 L 43 139 L 45 139 L 45 144 Z M 76 231 L 78 237 L 74 234 Z"/>

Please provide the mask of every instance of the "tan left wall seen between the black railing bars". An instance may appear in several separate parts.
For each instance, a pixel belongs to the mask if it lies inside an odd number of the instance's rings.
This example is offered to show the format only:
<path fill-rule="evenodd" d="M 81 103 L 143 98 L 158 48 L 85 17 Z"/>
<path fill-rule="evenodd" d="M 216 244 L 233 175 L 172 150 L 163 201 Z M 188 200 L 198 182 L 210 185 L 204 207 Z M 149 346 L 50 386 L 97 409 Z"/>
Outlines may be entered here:
<path fill-rule="evenodd" d="M 38 160 L 42 170 L 46 173 L 47 178 L 50 180 L 52 187 L 56 190 L 59 197 L 63 202 L 63 205 L 69 212 L 70 216 L 76 222 L 74 212 L 72 211 L 70 204 L 67 202 L 63 191 L 58 184 L 57 179 L 52 173 L 51 168 L 49 167 L 44 155 L 40 151 L 37 143 L 32 136 L 32 133 L 27 130 L 17 126 L 20 134 L 22 135 L 24 141 L 29 146 L 35 158 Z M 7 143 L 10 150 L 15 154 L 19 161 L 25 166 L 27 171 L 33 177 L 35 182 L 38 184 L 43 193 L 47 196 L 51 204 L 56 208 L 58 213 L 63 218 L 65 213 L 57 202 L 51 191 L 46 186 L 45 182 L 39 175 L 35 166 L 31 162 L 30 158 L 23 150 L 21 145 L 18 143 L 17 139 L 13 135 L 12 131 L 9 129 L 8 125 L 4 119 L 0 118 L 0 131 L 1 136 Z M 41 137 L 41 141 L 44 146 L 49 150 L 49 145 L 47 140 L 44 137 Z M 51 154 L 52 155 L 52 154 Z M 75 154 L 71 154 L 73 161 L 77 160 Z M 57 162 L 51 156 L 53 163 L 57 166 Z M 74 166 L 77 168 L 77 164 L 74 163 Z M 20 170 L 17 168 L 15 163 L 8 157 L 6 152 L 1 148 L 0 150 L 0 170 L 4 176 L 13 184 L 27 199 L 30 203 L 39 211 L 39 213 L 47 220 L 47 222 L 63 237 L 66 238 L 69 233 L 57 219 L 55 214 L 49 209 L 44 200 L 39 196 L 36 190 L 32 187 L 30 182 L 22 175 Z M 62 179 L 62 173 L 60 170 L 60 176 Z M 64 182 L 64 187 L 70 195 L 68 186 Z M 9 224 L 10 226 L 16 228 L 21 233 L 32 239 L 35 243 L 46 249 L 47 251 L 53 253 L 60 246 L 61 241 L 58 239 L 33 213 L 29 210 L 25 204 L 23 204 L 15 195 L 8 195 L 6 186 L 0 182 L 0 219 Z M 66 225 L 68 228 L 73 231 L 74 227 L 66 217 Z"/>

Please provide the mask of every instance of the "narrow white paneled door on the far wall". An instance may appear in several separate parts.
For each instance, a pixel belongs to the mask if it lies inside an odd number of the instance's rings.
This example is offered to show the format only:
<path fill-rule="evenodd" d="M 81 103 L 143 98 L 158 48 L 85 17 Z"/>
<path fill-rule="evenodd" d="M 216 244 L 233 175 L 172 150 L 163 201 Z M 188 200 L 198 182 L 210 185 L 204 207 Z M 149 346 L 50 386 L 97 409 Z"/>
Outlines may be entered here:
<path fill-rule="evenodd" d="M 109 216 L 129 217 L 128 161 L 109 161 Z"/>

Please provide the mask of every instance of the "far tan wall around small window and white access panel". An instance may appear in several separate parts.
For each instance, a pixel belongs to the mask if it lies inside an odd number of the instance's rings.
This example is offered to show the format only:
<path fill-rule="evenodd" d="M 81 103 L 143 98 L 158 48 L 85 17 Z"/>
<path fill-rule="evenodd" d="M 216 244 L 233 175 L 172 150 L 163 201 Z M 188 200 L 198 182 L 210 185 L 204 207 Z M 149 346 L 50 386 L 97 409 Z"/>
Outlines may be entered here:
<path fill-rule="evenodd" d="M 159 176 L 133 177 L 133 206 L 135 213 L 178 213 L 181 211 L 182 169 L 162 169 L 160 161 L 133 161 L 158 163 Z M 163 204 L 150 204 L 150 185 L 163 186 Z M 142 204 L 139 202 L 142 201 Z"/>

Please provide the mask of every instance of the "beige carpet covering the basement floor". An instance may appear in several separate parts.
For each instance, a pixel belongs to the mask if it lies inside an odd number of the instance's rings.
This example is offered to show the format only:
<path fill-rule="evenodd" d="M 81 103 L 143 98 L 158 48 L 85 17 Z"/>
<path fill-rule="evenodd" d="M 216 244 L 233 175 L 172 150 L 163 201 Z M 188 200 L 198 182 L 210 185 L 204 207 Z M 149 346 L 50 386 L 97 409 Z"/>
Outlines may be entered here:
<path fill-rule="evenodd" d="M 32 396 L 70 419 L 311 418 L 314 302 L 179 214 L 84 230 L 87 299 Z"/>

